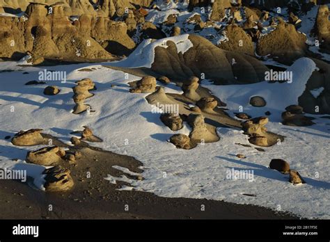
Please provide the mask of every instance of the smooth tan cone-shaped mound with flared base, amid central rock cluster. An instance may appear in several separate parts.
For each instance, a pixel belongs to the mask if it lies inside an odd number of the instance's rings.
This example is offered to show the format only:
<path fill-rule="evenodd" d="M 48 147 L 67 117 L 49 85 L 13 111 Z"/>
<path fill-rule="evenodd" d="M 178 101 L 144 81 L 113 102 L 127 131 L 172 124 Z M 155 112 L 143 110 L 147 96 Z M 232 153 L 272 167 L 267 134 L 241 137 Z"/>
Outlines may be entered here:
<path fill-rule="evenodd" d="M 189 134 L 194 143 L 212 143 L 219 140 L 219 137 L 207 129 L 204 116 L 201 114 L 190 114 L 187 119 L 192 131 Z"/>

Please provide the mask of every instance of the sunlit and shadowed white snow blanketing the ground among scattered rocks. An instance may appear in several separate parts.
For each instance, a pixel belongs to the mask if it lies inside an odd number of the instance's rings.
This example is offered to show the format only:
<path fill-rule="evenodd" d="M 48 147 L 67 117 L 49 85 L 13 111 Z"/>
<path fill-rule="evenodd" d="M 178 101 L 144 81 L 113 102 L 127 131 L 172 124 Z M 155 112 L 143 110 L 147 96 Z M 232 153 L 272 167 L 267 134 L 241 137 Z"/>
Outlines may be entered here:
<path fill-rule="evenodd" d="M 181 37 L 182 38 L 182 37 Z M 177 38 L 177 42 L 182 41 Z M 187 40 L 187 36 L 184 37 Z M 152 47 L 161 45 L 158 41 Z M 146 48 L 146 45 L 142 45 Z M 148 56 L 147 49 L 139 47 L 133 56 L 125 61 L 111 63 L 125 66 L 150 66 L 153 56 Z M 151 51 L 152 52 L 152 51 Z M 139 65 L 139 54 L 144 60 Z M 81 130 L 84 125 L 93 129 L 94 134 L 104 140 L 92 145 L 134 156 L 143 163 L 143 181 L 121 177 L 104 177 L 111 182 L 129 181 L 129 186 L 120 190 L 149 191 L 164 197 L 194 197 L 213 200 L 224 200 L 239 204 L 257 204 L 263 207 L 290 211 L 306 218 L 330 218 L 330 154 L 329 120 L 317 115 L 315 125 L 311 127 L 287 127 L 281 121 L 281 112 L 285 106 L 297 103 L 306 81 L 315 63 L 308 58 L 301 58 L 289 68 L 293 72 L 292 83 L 254 83 L 244 86 L 214 86 L 203 81 L 203 86 L 228 104 L 230 115 L 243 106 L 244 111 L 257 117 L 270 111 L 269 131 L 284 135 L 283 143 L 265 148 L 259 152 L 249 144 L 247 137 L 238 129 L 219 128 L 221 139 L 217 143 L 198 145 L 193 150 L 176 149 L 167 140 L 173 134 L 189 134 L 189 127 L 171 131 L 159 119 L 159 113 L 152 113 L 152 106 L 145 97 L 147 94 L 129 92 L 129 81 L 140 79 L 131 74 L 125 79 L 125 73 L 111 70 L 102 65 L 79 64 L 54 66 L 54 71 L 66 71 L 67 81 L 49 82 L 45 85 L 24 86 L 24 83 L 38 78 L 42 67 L 17 67 L 15 63 L 0 63 L 10 66 L 15 72 L 0 73 L 0 168 L 21 168 L 27 175 L 34 177 L 34 184 L 42 188 L 42 166 L 24 162 L 26 152 L 38 147 L 15 147 L 5 136 L 13 136 L 21 129 L 42 128 L 45 133 L 52 134 L 68 142 L 70 132 Z M 16 69 L 17 68 L 17 69 Z M 93 72 L 80 72 L 81 68 L 95 68 Z M 29 74 L 22 74 L 23 71 Z M 95 95 L 86 100 L 93 115 L 71 113 L 74 106 L 72 87 L 74 81 L 91 78 L 97 90 Z M 114 87 L 111 87 L 115 84 Z M 159 83 L 160 84 L 160 83 Z M 61 92 L 56 96 L 44 96 L 43 88 L 56 85 Z M 180 92 L 175 85 L 167 86 L 167 92 Z M 267 106 L 254 108 L 249 105 L 249 98 L 255 95 L 265 97 Z M 15 111 L 10 112 L 14 106 Z M 128 143 L 127 143 L 128 141 Z M 244 147 L 237 145 L 251 145 Z M 246 159 L 238 159 L 236 154 L 244 154 Z M 18 159 L 13 161 L 12 159 Z M 299 171 L 306 184 L 294 186 L 288 182 L 288 175 L 268 168 L 271 159 L 285 159 L 291 168 Z M 129 170 L 114 167 L 129 174 Z M 228 170 L 253 171 L 254 179 L 227 179 Z M 253 194 L 256 197 L 242 195 Z"/>

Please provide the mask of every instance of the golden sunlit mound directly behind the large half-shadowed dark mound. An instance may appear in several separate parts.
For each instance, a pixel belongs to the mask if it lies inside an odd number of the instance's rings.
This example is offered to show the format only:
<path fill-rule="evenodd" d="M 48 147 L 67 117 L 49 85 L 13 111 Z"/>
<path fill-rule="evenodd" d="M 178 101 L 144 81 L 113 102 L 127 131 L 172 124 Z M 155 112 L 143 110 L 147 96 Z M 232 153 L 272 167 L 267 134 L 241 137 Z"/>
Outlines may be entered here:
<path fill-rule="evenodd" d="M 225 32 L 229 40 L 223 41 L 218 45 L 221 49 L 254 56 L 252 38 L 241 27 L 236 24 L 230 24 L 226 27 Z"/>

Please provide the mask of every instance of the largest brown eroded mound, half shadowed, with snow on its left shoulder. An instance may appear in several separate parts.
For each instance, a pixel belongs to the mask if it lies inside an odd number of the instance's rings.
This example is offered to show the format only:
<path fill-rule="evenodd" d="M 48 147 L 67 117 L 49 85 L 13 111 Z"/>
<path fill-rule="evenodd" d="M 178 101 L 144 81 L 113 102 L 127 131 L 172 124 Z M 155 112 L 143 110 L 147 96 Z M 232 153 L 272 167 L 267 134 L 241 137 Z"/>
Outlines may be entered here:
<path fill-rule="evenodd" d="M 155 48 L 155 60 L 151 69 L 170 79 L 188 79 L 205 74 L 216 83 L 256 83 L 265 79 L 268 68 L 247 55 L 225 51 L 205 38 L 189 35 L 193 44 L 184 54 L 179 53 L 174 42 L 167 48 Z"/>

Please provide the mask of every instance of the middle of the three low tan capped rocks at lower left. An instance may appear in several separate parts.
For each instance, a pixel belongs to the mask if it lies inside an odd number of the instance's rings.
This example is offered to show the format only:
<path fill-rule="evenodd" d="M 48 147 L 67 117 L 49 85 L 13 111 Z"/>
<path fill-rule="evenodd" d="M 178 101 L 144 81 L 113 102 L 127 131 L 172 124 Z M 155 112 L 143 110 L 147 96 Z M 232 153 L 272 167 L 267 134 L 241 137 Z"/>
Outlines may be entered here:
<path fill-rule="evenodd" d="M 65 156 L 65 151 L 60 147 L 45 147 L 28 152 L 26 161 L 40 166 L 54 166 L 61 163 L 62 156 Z"/>

